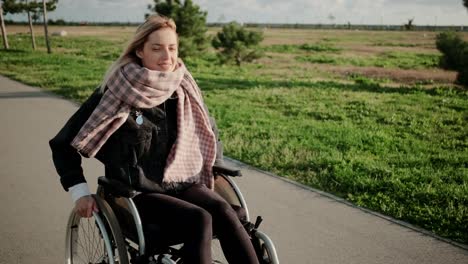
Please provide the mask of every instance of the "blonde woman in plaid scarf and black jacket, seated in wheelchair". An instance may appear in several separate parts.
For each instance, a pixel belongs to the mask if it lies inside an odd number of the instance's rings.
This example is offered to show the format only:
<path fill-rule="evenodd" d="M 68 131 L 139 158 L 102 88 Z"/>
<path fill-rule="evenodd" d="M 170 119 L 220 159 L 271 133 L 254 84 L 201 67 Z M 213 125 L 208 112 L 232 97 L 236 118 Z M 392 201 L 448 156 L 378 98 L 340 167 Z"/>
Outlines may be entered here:
<path fill-rule="evenodd" d="M 138 191 L 145 223 L 184 240 L 184 263 L 211 264 L 212 229 L 229 263 L 258 263 L 236 213 L 212 191 L 217 140 L 201 91 L 178 59 L 173 20 L 153 15 L 96 90 L 50 141 L 61 183 L 82 217 L 97 211 L 81 157 Z"/>

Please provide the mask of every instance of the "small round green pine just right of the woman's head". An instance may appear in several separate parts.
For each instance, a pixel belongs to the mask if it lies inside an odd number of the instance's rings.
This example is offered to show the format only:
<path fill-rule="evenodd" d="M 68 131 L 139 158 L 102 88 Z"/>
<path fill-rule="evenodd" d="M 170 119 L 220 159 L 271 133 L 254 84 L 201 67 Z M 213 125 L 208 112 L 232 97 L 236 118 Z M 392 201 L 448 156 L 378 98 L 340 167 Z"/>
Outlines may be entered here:
<path fill-rule="evenodd" d="M 237 66 L 261 57 L 258 44 L 263 40 L 261 32 L 247 31 L 236 22 L 223 26 L 213 38 L 212 45 L 220 50 L 219 58 L 225 63 L 234 60 Z"/>

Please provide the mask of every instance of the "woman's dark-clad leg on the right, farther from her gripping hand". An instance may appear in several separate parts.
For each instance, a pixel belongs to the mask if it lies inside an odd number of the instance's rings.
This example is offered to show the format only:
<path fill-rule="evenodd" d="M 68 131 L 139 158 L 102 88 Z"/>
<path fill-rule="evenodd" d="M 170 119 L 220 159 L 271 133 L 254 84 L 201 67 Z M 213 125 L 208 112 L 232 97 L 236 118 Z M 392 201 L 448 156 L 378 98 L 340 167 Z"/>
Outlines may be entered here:
<path fill-rule="evenodd" d="M 229 263 L 258 264 L 249 235 L 226 200 L 201 184 L 190 187 L 177 197 L 196 204 L 211 214 L 215 233 Z"/>

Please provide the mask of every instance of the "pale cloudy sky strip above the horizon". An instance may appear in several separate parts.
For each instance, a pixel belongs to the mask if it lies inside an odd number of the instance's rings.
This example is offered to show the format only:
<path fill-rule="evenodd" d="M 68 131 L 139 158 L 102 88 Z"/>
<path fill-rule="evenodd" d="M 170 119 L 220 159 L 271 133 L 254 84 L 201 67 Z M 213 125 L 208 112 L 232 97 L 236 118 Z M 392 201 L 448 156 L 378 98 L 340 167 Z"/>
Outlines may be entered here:
<path fill-rule="evenodd" d="M 208 22 L 465 25 L 462 0 L 193 0 Z M 152 0 L 59 0 L 50 19 L 141 22 Z M 7 18 L 21 20 L 23 16 Z"/>

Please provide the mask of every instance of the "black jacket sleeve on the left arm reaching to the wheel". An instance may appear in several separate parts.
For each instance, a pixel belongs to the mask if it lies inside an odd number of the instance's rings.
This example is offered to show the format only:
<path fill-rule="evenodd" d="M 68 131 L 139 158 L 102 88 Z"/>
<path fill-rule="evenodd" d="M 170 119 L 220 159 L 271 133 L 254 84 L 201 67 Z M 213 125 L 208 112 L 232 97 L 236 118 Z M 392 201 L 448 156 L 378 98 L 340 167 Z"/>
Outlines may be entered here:
<path fill-rule="evenodd" d="M 70 143 L 88 120 L 101 97 L 102 94 L 99 89 L 96 89 L 73 116 L 70 117 L 58 134 L 49 141 L 52 150 L 52 160 L 65 191 L 68 191 L 68 188 L 71 186 L 86 182 L 83 168 L 81 167 L 81 155 Z"/>

